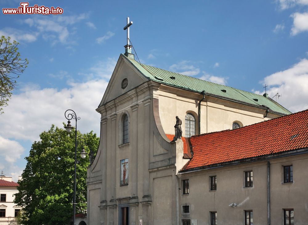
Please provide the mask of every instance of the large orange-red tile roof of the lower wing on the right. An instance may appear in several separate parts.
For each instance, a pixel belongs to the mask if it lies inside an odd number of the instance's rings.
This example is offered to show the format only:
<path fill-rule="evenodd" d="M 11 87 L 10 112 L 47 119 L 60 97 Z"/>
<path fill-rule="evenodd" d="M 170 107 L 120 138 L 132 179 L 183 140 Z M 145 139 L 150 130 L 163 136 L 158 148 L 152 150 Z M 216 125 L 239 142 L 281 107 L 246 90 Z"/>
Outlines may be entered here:
<path fill-rule="evenodd" d="M 308 110 L 234 130 L 190 138 L 193 158 L 184 170 L 308 147 Z"/>

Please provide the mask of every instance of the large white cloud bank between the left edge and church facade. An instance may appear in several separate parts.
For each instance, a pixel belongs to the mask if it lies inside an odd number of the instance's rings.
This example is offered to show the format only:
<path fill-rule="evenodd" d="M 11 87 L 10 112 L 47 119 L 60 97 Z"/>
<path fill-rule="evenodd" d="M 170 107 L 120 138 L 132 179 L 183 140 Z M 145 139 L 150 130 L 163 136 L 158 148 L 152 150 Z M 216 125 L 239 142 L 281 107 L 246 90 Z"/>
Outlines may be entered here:
<path fill-rule="evenodd" d="M 80 132 L 93 130 L 100 135 L 100 114 L 95 109 L 103 97 L 114 66 L 115 59 L 101 61 L 90 69 L 94 79 L 82 83 L 70 80 L 67 81 L 69 87 L 60 90 L 40 88 L 38 84 L 20 85 L 19 93 L 12 95 L 5 113 L 1 115 L 0 169 L 17 181 L 23 169 L 17 167 L 15 161 L 30 150 L 30 147 L 24 149 L 20 143 L 39 141 L 39 134 L 50 129 L 52 124 L 63 127 L 62 122 L 67 122 L 64 116 L 67 109 L 73 109 L 81 118 L 78 121 Z M 65 78 L 67 72 L 61 73 Z M 72 125 L 75 126 L 75 122 Z"/>

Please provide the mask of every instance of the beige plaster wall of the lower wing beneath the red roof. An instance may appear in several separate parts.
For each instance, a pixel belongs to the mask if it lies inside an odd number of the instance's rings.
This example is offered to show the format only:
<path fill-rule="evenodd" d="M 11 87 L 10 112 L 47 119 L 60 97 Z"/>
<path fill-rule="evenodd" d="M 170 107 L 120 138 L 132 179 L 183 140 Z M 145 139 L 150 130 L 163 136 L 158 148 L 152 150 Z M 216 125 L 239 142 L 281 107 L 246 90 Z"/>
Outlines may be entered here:
<path fill-rule="evenodd" d="M 271 224 L 283 224 L 283 209 L 287 208 L 294 208 L 294 224 L 307 224 L 307 163 L 308 154 L 270 160 Z M 293 183 L 282 183 L 282 166 L 286 165 L 293 165 Z M 253 171 L 253 187 L 245 187 L 244 172 L 248 170 Z M 210 190 L 210 176 L 214 175 L 217 190 Z M 202 170 L 178 178 L 180 185 L 189 179 L 189 194 L 179 191 L 179 211 L 182 205 L 190 205 L 188 218 L 197 219 L 197 224 L 210 224 L 211 211 L 217 211 L 219 224 L 244 224 L 245 210 L 253 210 L 254 225 L 267 224 L 267 162 Z M 237 207 L 229 207 L 233 202 Z"/>

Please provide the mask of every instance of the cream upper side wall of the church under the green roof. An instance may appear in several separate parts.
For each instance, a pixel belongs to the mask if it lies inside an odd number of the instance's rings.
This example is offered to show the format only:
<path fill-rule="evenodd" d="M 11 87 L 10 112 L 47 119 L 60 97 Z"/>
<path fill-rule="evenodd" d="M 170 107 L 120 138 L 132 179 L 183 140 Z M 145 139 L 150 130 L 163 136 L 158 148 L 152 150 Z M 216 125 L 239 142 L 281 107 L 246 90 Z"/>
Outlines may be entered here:
<path fill-rule="evenodd" d="M 164 85 L 157 93 L 164 132 L 174 133 L 175 117 L 178 116 L 182 120 L 183 136 L 185 136 L 185 116 L 191 113 L 196 119 L 196 134 L 198 134 L 198 103 L 203 96 Z M 265 110 L 260 108 L 207 96 L 201 102 L 201 133 L 232 129 L 235 121 L 246 126 L 277 117 L 269 114 L 264 118 L 264 113 Z"/>

